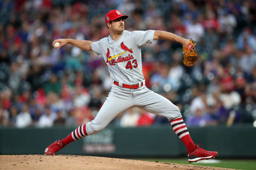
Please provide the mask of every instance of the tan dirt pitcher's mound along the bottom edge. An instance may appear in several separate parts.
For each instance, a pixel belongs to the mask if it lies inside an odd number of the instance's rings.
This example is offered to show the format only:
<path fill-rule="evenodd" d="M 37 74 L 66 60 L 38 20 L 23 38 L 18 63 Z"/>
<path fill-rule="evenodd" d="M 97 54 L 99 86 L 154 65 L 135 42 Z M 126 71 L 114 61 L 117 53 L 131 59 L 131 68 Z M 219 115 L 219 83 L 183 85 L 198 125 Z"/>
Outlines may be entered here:
<path fill-rule="evenodd" d="M 225 169 L 196 165 L 76 155 L 0 155 L 0 165 L 0 169 Z"/>

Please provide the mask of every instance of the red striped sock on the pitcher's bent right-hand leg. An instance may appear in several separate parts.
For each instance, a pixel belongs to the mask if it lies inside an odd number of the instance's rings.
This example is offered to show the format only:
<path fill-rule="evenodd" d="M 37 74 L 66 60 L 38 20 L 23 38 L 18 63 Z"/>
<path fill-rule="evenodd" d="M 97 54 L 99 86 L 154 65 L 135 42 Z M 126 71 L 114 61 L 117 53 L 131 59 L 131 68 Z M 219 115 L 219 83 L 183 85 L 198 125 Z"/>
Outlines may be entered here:
<path fill-rule="evenodd" d="M 196 145 L 191 139 L 186 124 L 184 123 L 182 117 L 177 118 L 175 120 L 170 121 L 172 125 L 172 129 L 178 135 L 180 140 L 184 143 L 187 147 L 189 152 L 193 152 L 196 149 Z"/>

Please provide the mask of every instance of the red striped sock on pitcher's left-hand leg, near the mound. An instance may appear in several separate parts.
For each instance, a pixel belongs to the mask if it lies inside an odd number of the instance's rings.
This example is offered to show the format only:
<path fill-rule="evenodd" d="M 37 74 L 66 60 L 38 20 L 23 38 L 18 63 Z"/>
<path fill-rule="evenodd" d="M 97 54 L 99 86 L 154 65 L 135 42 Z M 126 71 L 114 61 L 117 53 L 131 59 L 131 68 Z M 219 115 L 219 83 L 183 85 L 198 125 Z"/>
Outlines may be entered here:
<path fill-rule="evenodd" d="M 61 139 L 60 141 L 63 142 L 63 145 L 66 146 L 68 143 L 73 142 L 77 139 L 83 138 L 87 136 L 86 132 L 86 124 L 83 124 L 76 128 L 73 132 L 71 132 L 66 138 Z"/>

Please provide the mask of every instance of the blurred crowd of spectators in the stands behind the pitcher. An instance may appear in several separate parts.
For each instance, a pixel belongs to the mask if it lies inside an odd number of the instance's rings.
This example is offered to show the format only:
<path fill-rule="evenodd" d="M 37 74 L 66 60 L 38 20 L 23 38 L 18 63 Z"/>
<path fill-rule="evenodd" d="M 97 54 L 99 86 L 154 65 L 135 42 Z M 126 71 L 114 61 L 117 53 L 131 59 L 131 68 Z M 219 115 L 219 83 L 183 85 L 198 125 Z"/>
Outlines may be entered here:
<path fill-rule="evenodd" d="M 0 1 L 0 127 L 77 126 L 93 120 L 111 89 L 102 56 L 52 41 L 109 35 L 105 14 L 129 15 L 126 30 L 165 30 L 196 40 L 196 65 L 181 45 L 157 40 L 142 48 L 146 86 L 180 108 L 187 126 L 256 120 L 256 2 Z M 169 123 L 132 108 L 116 126 Z"/>

